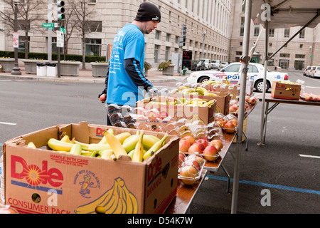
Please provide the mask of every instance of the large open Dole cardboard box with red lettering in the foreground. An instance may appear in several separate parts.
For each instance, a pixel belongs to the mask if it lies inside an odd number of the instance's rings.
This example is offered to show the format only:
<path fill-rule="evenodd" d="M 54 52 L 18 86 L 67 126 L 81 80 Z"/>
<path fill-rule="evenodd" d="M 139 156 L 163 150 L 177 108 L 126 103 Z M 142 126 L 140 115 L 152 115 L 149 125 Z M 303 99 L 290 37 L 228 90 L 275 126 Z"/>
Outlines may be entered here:
<path fill-rule="evenodd" d="M 127 156 L 105 160 L 48 150 L 48 140 L 60 139 L 63 133 L 80 142 L 97 143 L 110 128 L 114 135 L 137 133 L 135 129 L 80 122 L 55 125 L 5 142 L 5 203 L 31 214 L 88 214 L 101 211 L 97 205 L 106 213 L 164 213 L 176 196 L 176 136 L 169 135 L 161 150 L 144 162 L 132 162 Z M 37 148 L 26 147 L 28 142 Z"/>

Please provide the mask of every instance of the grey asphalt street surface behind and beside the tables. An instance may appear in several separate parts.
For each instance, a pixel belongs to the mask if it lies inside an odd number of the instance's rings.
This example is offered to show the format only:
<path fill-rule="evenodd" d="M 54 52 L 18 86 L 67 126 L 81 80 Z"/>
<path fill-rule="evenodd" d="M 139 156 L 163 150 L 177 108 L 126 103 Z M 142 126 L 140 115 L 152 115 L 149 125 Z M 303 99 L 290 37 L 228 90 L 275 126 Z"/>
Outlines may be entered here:
<path fill-rule="evenodd" d="M 320 91 L 320 78 L 289 72 L 306 90 Z M 155 83 L 174 87 L 175 83 Z M 60 123 L 87 121 L 106 124 L 105 106 L 97 98 L 103 84 L 10 81 L 0 79 L 0 145 L 6 140 Z M 269 92 L 270 93 L 270 92 Z M 319 106 L 280 104 L 268 116 L 265 146 L 260 142 L 261 103 L 248 117 L 248 151 L 241 150 L 238 213 L 318 214 Z M 243 144 L 245 145 L 245 144 Z M 235 145 L 230 152 L 235 151 Z M 223 165 L 233 178 L 233 155 Z M 2 148 L 0 156 L 2 155 Z M 232 191 L 232 184 L 231 184 Z M 226 192 L 223 170 L 209 173 L 190 207 L 191 214 L 230 213 L 232 194 Z M 270 204 L 263 203 L 264 192 Z"/>

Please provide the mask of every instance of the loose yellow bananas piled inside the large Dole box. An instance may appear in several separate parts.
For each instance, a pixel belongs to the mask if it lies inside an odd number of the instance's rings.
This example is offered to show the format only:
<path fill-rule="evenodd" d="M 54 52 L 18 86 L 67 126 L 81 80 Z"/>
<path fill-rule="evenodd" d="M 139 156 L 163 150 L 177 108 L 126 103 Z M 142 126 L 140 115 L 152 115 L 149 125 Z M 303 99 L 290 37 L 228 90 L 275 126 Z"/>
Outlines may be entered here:
<path fill-rule="evenodd" d="M 110 128 L 105 132 L 102 140 L 97 143 L 83 143 L 75 140 L 75 138 L 70 140 L 68 135 L 63 135 L 60 140 L 50 138 L 48 147 L 55 151 L 73 155 L 101 157 L 107 160 L 117 160 L 119 156 L 130 156 L 134 162 L 143 162 L 147 157 L 161 149 L 166 143 L 167 137 L 168 135 L 165 134 L 160 139 L 140 130 L 137 130 L 134 135 L 128 132 L 114 135 Z M 29 142 L 27 147 L 36 148 L 36 145 Z"/>

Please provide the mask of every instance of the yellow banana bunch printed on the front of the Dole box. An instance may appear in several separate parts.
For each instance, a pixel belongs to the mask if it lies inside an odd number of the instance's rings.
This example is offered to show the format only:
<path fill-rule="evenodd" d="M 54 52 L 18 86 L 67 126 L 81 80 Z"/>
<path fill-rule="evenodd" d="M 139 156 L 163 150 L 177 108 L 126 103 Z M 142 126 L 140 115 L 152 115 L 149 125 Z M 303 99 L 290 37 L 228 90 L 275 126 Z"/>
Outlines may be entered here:
<path fill-rule="evenodd" d="M 94 201 L 75 209 L 76 214 L 137 214 L 137 198 L 127 189 L 121 177 L 114 185 Z"/>

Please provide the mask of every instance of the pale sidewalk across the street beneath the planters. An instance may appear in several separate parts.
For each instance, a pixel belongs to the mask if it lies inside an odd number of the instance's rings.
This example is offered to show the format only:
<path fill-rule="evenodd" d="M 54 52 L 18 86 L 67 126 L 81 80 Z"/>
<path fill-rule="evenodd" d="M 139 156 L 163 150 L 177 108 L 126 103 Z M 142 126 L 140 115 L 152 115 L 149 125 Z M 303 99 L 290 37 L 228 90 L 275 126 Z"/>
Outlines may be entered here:
<path fill-rule="evenodd" d="M 21 76 L 11 75 L 10 72 L 0 73 L 1 79 L 10 80 L 36 80 L 36 81 L 54 81 L 54 82 L 73 82 L 73 83 L 105 83 L 105 78 L 92 77 L 92 71 L 90 69 L 79 70 L 79 76 L 37 76 L 34 74 L 27 74 L 25 72 L 24 66 L 20 66 Z M 174 73 L 173 76 L 163 76 L 162 71 L 154 71 L 153 69 L 148 71 L 148 76 L 146 77 L 151 83 L 163 83 L 163 82 L 174 82 L 182 81 L 187 76 L 179 76 L 178 73 Z"/>

